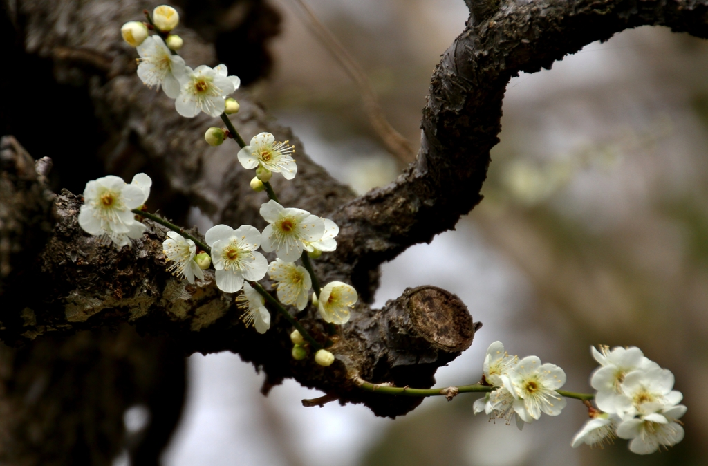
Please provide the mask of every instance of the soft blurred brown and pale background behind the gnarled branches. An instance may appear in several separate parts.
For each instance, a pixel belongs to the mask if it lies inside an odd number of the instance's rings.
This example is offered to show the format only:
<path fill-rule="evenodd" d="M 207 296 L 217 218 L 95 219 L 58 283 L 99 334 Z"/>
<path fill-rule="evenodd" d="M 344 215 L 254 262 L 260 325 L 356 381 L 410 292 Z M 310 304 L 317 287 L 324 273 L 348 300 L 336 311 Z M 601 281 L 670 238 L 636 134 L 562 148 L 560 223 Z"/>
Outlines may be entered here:
<path fill-rule="evenodd" d="M 273 73 L 251 91 L 333 176 L 362 193 L 389 183 L 403 165 L 372 131 L 358 89 L 292 0 L 272 3 L 282 13 Z M 417 148 L 430 74 L 464 30 L 464 2 L 309 4 Z M 301 399 L 321 394 L 288 380 L 264 398 L 262 375 L 221 353 L 188 360 L 188 402 L 166 465 L 706 464 L 708 44 L 666 28 L 625 31 L 513 79 L 503 110 L 484 200 L 456 231 L 385 264 L 377 304 L 439 285 L 484 322 L 472 348 L 439 371 L 440 386 L 478 381 L 486 347 L 501 340 L 564 368 L 567 390 L 590 392 L 590 345 L 639 346 L 685 395 L 683 443 L 643 457 L 622 440 L 572 449 L 587 419 L 575 400 L 523 432 L 474 416 L 472 394 L 428 399 L 395 421 L 336 403 L 304 408 Z M 139 412 L 128 414 L 139 427 Z"/>

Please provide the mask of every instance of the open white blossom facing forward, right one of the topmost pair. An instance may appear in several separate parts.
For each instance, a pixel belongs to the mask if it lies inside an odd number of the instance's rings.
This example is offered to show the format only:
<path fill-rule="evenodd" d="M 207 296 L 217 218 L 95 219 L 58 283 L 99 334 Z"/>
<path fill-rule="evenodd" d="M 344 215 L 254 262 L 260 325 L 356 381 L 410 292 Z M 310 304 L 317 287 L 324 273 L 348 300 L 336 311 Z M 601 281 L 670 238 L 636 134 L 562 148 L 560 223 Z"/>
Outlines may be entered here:
<path fill-rule="evenodd" d="M 234 80 L 205 64 L 195 69 L 185 67 L 179 84 L 180 92 L 175 101 L 175 108 L 177 113 L 187 118 L 197 116 L 200 111 L 212 117 L 221 115 L 226 108 L 224 96 L 236 90 Z"/>

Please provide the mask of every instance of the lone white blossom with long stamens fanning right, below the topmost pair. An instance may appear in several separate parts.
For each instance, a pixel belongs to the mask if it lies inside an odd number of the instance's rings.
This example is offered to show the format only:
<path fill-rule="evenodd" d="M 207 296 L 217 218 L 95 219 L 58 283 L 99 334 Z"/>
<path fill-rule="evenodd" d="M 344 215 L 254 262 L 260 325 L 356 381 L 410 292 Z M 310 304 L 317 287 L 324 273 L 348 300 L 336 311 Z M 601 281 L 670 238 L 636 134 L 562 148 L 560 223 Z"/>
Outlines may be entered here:
<path fill-rule="evenodd" d="M 295 148 L 288 142 L 275 142 L 270 132 L 261 132 L 251 137 L 251 143 L 239 151 L 239 161 L 244 169 L 262 166 L 275 173 L 282 173 L 287 180 L 295 178 L 297 165 L 292 153 Z"/>

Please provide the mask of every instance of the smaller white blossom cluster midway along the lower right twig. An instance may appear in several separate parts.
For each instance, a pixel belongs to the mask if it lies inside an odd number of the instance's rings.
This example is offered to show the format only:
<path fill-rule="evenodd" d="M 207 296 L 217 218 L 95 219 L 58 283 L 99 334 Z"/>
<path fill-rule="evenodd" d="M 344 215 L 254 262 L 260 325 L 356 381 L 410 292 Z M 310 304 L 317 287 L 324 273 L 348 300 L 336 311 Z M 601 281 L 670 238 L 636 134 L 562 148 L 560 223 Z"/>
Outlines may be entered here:
<path fill-rule="evenodd" d="M 566 407 L 556 392 L 565 384 L 566 373 L 557 365 L 542 364 L 537 356 L 510 356 L 501 341 L 495 341 L 487 348 L 483 370 L 484 382 L 495 389 L 474 402 L 475 414 L 484 411 L 507 424 L 515 418 L 521 430 L 542 413 L 558 416 Z"/>

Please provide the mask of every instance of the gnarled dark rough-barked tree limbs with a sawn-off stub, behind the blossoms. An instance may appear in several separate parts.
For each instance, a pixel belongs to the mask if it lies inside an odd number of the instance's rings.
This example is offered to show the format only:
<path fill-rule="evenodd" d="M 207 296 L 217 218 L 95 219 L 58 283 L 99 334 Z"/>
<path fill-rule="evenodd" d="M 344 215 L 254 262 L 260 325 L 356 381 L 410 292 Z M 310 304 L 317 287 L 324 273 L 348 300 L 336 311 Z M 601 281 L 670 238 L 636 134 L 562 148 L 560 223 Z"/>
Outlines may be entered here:
<path fill-rule="evenodd" d="M 467 4 L 474 10 L 473 2 Z M 168 98 L 144 89 L 135 76 L 135 52 L 121 42 L 118 29 L 151 6 L 137 0 L 24 0 L 18 1 L 8 23 L 22 37 L 23 54 L 50 62 L 59 83 L 78 86 L 90 98 L 101 132 L 103 171 L 124 178 L 147 171 L 156 180 L 149 208 L 167 209 L 179 199 L 174 215 L 184 215 L 188 200 L 215 222 L 260 229 L 264 223 L 258 208 L 265 195 L 249 189 L 253 174 L 236 162 L 234 145 L 207 147 L 202 134 L 214 124 L 212 119 L 181 118 Z M 472 321 L 458 300 L 439 300 L 440 315 L 460 322 L 455 326 L 460 343 L 450 346 L 437 337 L 426 338 L 426 326 L 411 317 L 423 303 L 411 299 L 413 291 L 384 309 L 370 309 L 377 267 L 408 246 L 453 228 L 460 215 L 479 203 L 509 79 L 520 71 L 549 68 L 583 45 L 639 25 L 708 35 L 707 0 L 506 1 L 498 9 L 492 5 L 480 11 L 435 69 L 417 161 L 391 185 L 358 198 L 313 164 L 300 150 L 302 144 L 268 119 L 248 93 L 236 96 L 241 112 L 233 120 L 244 137 L 270 131 L 298 148 L 295 180 L 274 179 L 282 203 L 331 217 L 341 226 L 337 251 L 317 261 L 316 271 L 324 283 L 353 283 L 364 299 L 343 327 L 344 338 L 333 347 L 335 365 L 320 368 L 310 360 L 292 360 L 290 329 L 278 317 L 265 336 L 245 329 L 232 297 L 218 292 L 210 273 L 198 285 L 171 278 L 164 271 L 161 227 L 147 222 L 148 232 L 133 249 L 99 246 L 77 227 L 81 201 L 68 192 L 57 198 L 57 225 L 38 258 L 42 270 L 32 277 L 50 285 L 29 297 L 31 306 L 13 301 L 6 292 L 0 296 L 1 338 L 21 343 L 50 330 L 70 333 L 130 322 L 141 333 L 169 335 L 185 353 L 239 353 L 263 368 L 266 391 L 282 377 L 295 377 L 341 402 L 363 402 L 379 415 L 396 416 L 415 407 L 415 400 L 384 400 L 359 392 L 350 377 L 429 387 L 435 369 L 469 346 L 474 332 L 464 329 Z M 197 33 L 184 28 L 180 34 L 188 63 L 217 62 L 214 47 Z M 314 312 L 305 313 L 301 322 L 324 339 L 324 326 Z"/>

